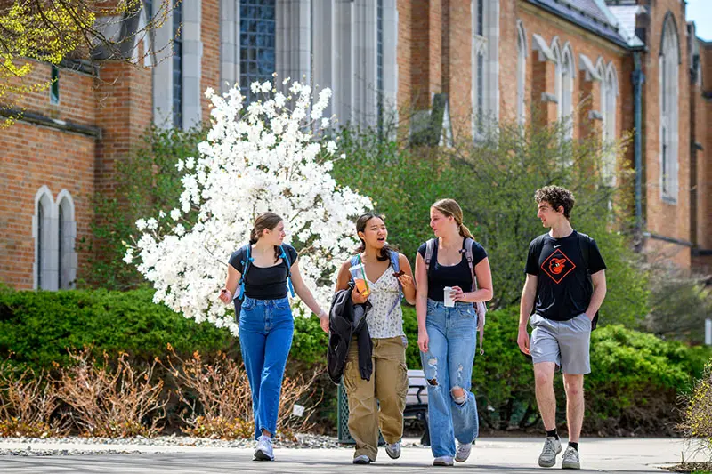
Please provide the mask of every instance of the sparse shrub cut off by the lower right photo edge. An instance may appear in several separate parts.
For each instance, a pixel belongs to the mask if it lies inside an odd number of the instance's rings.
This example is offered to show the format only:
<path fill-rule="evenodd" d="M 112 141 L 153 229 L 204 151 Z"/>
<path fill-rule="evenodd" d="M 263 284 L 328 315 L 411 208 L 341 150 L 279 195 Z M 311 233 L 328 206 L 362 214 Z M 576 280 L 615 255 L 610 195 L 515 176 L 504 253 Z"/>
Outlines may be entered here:
<path fill-rule="evenodd" d="M 678 425 L 684 437 L 698 444 L 712 459 L 712 360 L 702 378 L 685 399 L 683 422 Z"/>

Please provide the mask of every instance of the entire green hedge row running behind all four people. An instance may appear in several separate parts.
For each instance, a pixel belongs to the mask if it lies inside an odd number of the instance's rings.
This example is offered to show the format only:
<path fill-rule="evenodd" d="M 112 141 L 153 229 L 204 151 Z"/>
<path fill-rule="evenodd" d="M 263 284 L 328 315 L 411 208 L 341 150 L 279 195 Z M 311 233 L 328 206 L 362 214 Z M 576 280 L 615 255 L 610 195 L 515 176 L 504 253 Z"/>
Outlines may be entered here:
<path fill-rule="evenodd" d="M 189 356 L 219 351 L 239 357 L 239 342 L 226 330 L 198 325 L 153 304 L 149 289 L 131 292 L 0 291 L 0 358 L 34 369 L 69 364 L 68 348 L 93 346 L 96 354 L 127 352 L 136 363 L 165 358 L 167 344 Z M 409 336 L 408 366 L 420 368 L 415 311 L 404 307 Z M 488 314 L 484 356 L 477 355 L 473 390 L 483 430 L 538 426 L 530 359 L 516 346 L 518 310 Z M 292 374 L 323 366 L 327 336 L 315 317 L 295 319 L 295 338 L 287 370 Z M 609 325 L 592 336 L 592 374 L 586 378 L 588 434 L 671 433 L 678 421 L 676 400 L 702 374 L 710 350 L 662 341 Z M 561 378 L 557 393 L 562 396 Z M 336 421 L 336 390 L 324 381 L 320 415 Z M 564 400 L 559 403 L 564 420 Z"/>

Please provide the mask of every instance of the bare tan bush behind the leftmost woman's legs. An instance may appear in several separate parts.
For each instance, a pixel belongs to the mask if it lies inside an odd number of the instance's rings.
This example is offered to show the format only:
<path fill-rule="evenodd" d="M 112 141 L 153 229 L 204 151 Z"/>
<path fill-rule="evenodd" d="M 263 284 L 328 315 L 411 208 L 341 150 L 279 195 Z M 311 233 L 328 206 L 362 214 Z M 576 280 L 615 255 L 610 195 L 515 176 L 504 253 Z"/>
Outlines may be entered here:
<path fill-rule="evenodd" d="M 242 363 L 228 358 L 225 354 L 207 364 L 198 352 L 189 360 L 178 357 L 168 346 L 171 356 L 166 368 L 174 375 L 177 396 L 188 407 L 182 415 L 186 433 L 205 438 L 253 438 L 255 422 L 252 414 L 252 395 L 247 372 Z M 320 372 L 315 372 L 311 380 L 303 377 L 285 378 L 279 404 L 277 437 L 294 438 L 297 431 L 308 430 L 308 422 L 321 398 L 315 398 L 313 382 Z M 303 398 L 313 400 L 305 408 L 302 417 L 293 415 L 294 406 Z"/>

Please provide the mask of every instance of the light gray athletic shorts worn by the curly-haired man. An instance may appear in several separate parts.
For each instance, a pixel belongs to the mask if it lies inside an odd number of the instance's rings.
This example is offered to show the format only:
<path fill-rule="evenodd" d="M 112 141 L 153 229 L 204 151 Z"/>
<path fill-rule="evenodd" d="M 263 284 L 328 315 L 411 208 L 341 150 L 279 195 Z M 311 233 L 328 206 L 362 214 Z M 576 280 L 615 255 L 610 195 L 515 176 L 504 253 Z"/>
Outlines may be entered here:
<path fill-rule="evenodd" d="M 534 364 L 554 362 L 563 374 L 590 374 L 588 349 L 591 345 L 591 320 L 580 314 L 568 321 L 553 321 L 533 314 L 530 352 Z"/>

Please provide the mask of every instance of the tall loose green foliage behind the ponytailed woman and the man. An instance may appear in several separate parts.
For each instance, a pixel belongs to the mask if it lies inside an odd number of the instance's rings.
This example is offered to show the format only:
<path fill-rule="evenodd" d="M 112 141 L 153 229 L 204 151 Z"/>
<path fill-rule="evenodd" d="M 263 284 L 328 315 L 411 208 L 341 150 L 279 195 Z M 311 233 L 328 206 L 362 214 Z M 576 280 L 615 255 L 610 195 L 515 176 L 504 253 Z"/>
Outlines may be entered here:
<path fill-rule="evenodd" d="M 465 211 L 465 225 L 490 256 L 493 307 L 519 301 L 530 241 L 546 232 L 537 219 L 534 191 L 548 184 L 571 189 L 577 200 L 571 221 L 594 237 L 608 266 L 608 294 L 601 324 L 639 325 L 647 314 L 647 275 L 629 238 L 627 173 L 618 187 L 603 181 L 603 157 L 622 153 L 595 138 L 566 139 L 563 125 L 500 124 L 481 141 L 452 148 L 408 148 L 376 133 L 345 130 L 341 147 L 350 159 L 335 166 L 337 180 L 359 189 L 384 213 L 388 240 L 412 262 L 432 238 L 429 207 L 452 197 Z M 357 166 L 354 163 L 358 163 Z"/>

